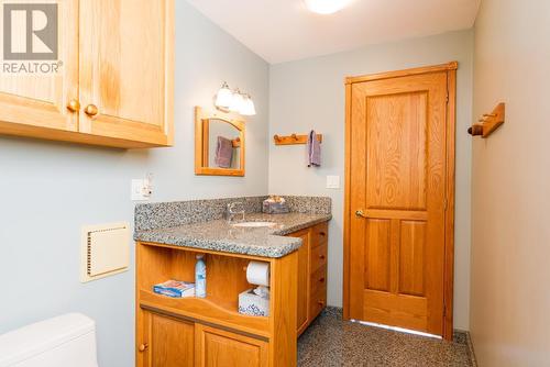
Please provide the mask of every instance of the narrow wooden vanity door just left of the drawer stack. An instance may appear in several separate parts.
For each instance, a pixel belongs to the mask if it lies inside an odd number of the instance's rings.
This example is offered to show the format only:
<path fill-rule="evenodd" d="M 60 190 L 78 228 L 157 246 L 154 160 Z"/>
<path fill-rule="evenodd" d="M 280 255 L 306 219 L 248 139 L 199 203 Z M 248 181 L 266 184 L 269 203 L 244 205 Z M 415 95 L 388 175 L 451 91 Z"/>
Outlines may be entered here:
<path fill-rule="evenodd" d="M 309 230 L 299 231 L 290 234 L 292 237 L 299 237 L 302 241 L 298 249 L 298 315 L 297 331 L 298 335 L 306 330 L 308 325 L 308 299 L 309 299 Z"/>

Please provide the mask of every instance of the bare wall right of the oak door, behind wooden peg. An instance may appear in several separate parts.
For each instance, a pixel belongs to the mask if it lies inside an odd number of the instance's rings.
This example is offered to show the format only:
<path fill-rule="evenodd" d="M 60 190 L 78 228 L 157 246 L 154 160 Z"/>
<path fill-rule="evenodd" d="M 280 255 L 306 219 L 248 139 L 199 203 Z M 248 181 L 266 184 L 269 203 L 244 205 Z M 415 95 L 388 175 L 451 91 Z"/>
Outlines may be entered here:
<path fill-rule="evenodd" d="M 472 340 L 480 366 L 550 366 L 550 2 L 483 0 L 475 22 Z"/>

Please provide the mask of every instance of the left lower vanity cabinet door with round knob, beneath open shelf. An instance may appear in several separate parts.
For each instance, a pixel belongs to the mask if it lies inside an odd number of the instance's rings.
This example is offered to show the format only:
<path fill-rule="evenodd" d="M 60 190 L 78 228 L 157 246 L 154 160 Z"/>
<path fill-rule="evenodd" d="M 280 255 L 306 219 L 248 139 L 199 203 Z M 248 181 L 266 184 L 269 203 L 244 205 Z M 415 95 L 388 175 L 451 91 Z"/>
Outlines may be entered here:
<path fill-rule="evenodd" d="M 142 311 L 144 327 L 138 332 L 138 366 L 195 366 L 195 324 Z M 141 362 L 141 364 L 140 364 Z"/>

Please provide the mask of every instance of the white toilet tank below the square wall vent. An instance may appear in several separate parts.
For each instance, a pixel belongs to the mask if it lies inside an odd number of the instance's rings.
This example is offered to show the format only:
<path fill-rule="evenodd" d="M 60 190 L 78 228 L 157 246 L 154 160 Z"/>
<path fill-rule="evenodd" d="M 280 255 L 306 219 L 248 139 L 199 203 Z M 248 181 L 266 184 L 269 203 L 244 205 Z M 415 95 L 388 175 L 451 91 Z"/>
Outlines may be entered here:
<path fill-rule="evenodd" d="M 96 323 L 80 313 L 0 335 L 0 367 L 98 367 Z"/>

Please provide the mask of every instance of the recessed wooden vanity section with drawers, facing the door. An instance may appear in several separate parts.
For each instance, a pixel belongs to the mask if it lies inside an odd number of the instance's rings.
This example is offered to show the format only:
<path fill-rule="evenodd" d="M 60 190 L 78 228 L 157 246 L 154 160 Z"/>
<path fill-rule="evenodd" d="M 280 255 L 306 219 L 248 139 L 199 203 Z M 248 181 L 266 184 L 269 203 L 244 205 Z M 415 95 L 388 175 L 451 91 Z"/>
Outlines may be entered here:
<path fill-rule="evenodd" d="M 298 249 L 298 335 L 327 307 L 328 235 L 327 222 L 289 234 L 302 241 Z"/>

